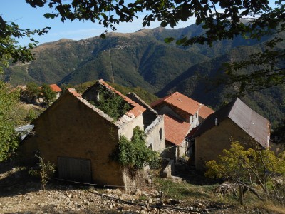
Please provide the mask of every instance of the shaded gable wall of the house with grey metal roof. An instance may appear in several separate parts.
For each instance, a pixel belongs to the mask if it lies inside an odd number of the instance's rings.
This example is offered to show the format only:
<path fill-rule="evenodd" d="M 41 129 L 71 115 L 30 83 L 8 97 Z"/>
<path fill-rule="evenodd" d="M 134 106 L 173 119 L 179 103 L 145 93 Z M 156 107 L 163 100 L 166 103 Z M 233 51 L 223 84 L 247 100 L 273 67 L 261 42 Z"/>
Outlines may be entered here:
<path fill-rule="evenodd" d="M 201 136 L 195 138 L 195 167 L 197 170 L 205 170 L 205 162 L 216 160 L 217 156 L 222 155 L 224 149 L 230 148 L 230 139 L 238 140 L 239 142 L 250 141 L 247 133 L 242 131 L 229 118 L 219 123 L 219 126 L 214 126 Z"/>

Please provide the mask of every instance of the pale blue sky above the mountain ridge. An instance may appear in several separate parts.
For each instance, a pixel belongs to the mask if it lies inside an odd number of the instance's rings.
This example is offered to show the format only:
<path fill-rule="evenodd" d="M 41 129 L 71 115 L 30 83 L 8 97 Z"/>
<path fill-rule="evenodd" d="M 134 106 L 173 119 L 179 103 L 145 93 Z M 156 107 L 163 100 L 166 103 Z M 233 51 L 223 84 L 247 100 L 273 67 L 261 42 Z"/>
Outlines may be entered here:
<path fill-rule="evenodd" d="M 274 0 L 271 0 L 274 2 Z M 48 6 L 43 8 L 32 8 L 29 4 L 26 4 L 25 0 L 1 0 L 0 15 L 6 21 L 14 21 L 19 24 L 22 29 L 42 29 L 46 26 L 50 26 L 51 30 L 48 34 L 43 36 L 34 36 L 39 44 L 43 44 L 48 41 L 58 41 L 59 39 L 86 39 L 93 36 L 102 34 L 105 29 L 97 23 L 91 21 L 66 21 L 61 22 L 60 19 L 46 19 L 43 14 L 50 12 L 51 9 Z M 135 20 L 132 23 L 125 23 L 116 26 L 117 32 L 131 33 L 142 29 L 142 17 L 144 14 L 140 14 L 139 20 Z M 181 22 L 177 28 L 182 28 L 193 24 L 194 19 L 190 19 L 187 22 Z M 152 23 L 150 28 L 160 26 L 159 23 Z M 19 44 L 28 44 L 28 39 L 21 39 Z"/>

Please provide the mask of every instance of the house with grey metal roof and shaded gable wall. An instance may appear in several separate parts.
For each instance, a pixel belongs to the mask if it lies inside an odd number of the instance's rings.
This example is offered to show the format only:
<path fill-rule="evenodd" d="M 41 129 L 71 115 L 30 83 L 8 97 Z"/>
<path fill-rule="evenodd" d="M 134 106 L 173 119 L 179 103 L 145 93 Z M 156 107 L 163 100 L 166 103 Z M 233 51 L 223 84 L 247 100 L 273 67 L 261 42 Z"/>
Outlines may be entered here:
<path fill-rule="evenodd" d="M 187 136 L 192 165 L 197 170 L 204 170 L 205 162 L 217 160 L 222 150 L 230 148 L 231 138 L 243 143 L 246 148 L 252 142 L 267 148 L 270 123 L 236 98 L 212 113 Z"/>

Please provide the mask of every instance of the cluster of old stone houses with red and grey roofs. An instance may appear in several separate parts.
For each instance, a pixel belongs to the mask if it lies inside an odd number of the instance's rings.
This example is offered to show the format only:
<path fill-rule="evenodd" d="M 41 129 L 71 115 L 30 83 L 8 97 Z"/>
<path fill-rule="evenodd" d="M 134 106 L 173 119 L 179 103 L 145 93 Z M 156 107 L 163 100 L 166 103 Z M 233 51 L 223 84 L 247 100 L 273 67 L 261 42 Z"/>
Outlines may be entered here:
<path fill-rule="evenodd" d="M 145 146 L 162 158 L 160 178 L 175 183 L 185 182 L 185 168 L 188 175 L 204 173 L 206 161 L 217 160 L 223 149 L 230 148 L 230 138 L 269 147 L 269 121 L 239 98 L 214 111 L 179 92 L 148 105 L 135 93 L 125 96 L 103 80 L 82 94 L 73 88 L 61 91 L 56 85 L 50 87 L 57 93 L 56 101 L 32 121 L 18 153 L 28 165 L 38 162 L 35 154 L 50 161 L 56 167 L 52 175 L 56 179 L 120 187 L 127 192 L 142 188 L 142 180 L 150 182 L 152 175 L 135 178 L 110 161 L 121 136 L 131 140 L 135 128 L 145 133 Z M 99 109 L 100 101 L 108 98 L 120 98 L 119 111 L 110 111 L 110 106 L 105 112 Z M 144 168 L 145 172 L 149 169 Z"/>

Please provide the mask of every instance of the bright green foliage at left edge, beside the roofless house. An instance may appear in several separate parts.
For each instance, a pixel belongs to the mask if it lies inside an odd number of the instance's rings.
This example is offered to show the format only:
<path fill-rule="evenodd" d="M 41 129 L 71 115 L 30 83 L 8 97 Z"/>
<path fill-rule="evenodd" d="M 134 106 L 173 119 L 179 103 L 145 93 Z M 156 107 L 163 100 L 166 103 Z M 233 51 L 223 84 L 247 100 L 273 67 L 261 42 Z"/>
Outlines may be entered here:
<path fill-rule="evenodd" d="M 0 162 L 9 158 L 19 144 L 18 134 L 14 129 L 11 111 L 18 100 L 17 91 L 10 91 L 6 83 L 0 81 Z"/>

